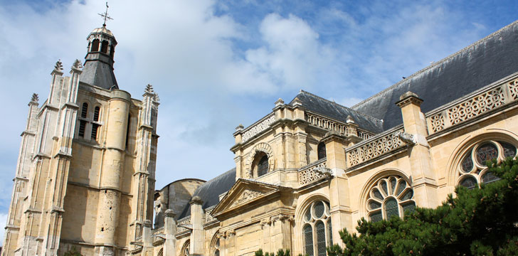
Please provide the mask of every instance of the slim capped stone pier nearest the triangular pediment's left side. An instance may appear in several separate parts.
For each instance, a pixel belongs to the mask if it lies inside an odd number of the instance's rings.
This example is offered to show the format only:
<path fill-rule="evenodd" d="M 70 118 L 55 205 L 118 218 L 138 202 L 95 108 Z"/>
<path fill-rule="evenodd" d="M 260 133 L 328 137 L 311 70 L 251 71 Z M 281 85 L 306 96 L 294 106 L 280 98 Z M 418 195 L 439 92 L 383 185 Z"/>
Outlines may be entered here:
<path fill-rule="evenodd" d="M 203 209 L 201 205 L 203 201 L 199 196 L 194 196 L 191 200 L 191 247 L 189 252 L 191 255 L 204 255 L 203 245 L 205 244 L 205 236 L 203 234 Z"/>

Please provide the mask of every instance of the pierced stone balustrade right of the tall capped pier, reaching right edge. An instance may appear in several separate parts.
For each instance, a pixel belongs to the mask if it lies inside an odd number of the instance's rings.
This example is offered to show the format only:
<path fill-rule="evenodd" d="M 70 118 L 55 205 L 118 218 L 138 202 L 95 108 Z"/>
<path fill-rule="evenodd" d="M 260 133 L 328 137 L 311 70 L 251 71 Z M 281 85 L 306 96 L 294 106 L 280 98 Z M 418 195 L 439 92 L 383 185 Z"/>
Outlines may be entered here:
<path fill-rule="evenodd" d="M 518 100 L 518 78 L 489 87 L 475 96 L 462 100 L 460 103 L 438 110 L 428 115 L 428 130 L 430 134 L 460 124 L 493 110 L 502 105 Z"/>

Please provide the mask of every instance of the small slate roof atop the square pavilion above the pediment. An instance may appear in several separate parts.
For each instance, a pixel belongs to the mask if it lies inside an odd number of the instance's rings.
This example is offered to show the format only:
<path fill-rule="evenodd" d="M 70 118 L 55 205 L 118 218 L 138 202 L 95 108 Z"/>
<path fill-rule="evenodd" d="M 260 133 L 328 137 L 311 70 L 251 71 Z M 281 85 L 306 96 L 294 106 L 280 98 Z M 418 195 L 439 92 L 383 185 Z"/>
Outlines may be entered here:
<path fill-rule="evenodd" d="M 366 129 L 367 131 L 374 133 L 383 131 L 381 120 L 362 114 L 361 112 L 351 110 L 349 107 L 344 107 L 336 102 L 318 97 L 310 92 L 300 90 L 299 94 L 297 94 L 297 96 L 290 102 L 290 105 L 292 105 L 293 101 L 297 98 L 302 102 L 302 107 L 310 112 L 322 114 L 340 122 L 346 122 L 347 116 L 350 115 L 354 119 L 354 122 L 356 122 L 356 124 L 358 124 L 362 129 Z"/>

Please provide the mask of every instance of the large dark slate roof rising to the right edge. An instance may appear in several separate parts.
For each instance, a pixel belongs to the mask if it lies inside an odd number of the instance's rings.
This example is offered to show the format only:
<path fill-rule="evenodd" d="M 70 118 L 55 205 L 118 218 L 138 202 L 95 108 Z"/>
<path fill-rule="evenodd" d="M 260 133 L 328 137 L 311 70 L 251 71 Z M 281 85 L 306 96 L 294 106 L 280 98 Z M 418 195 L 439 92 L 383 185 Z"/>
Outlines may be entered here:
<path fill-rule="evenodd" d="M 434 110 L 516 73 L 517 46 L 518 21 L 514 21 L 351 108 L 383 119 L 383 128 L 390 129 L 403 123 L 401 110 L 395 105 L 403 93 L 411 91 L 421 97 L 423 112 Z"/>

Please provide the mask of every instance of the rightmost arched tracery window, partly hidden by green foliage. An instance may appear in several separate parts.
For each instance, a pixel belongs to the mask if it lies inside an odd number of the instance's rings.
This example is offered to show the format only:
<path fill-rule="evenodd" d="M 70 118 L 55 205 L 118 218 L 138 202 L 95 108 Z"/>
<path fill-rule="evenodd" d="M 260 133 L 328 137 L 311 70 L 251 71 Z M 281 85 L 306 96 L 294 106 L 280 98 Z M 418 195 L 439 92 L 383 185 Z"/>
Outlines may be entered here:
<path fill-rule="evenodd" d="M 480 183 L 491 183 L 499 178 L 488 171 L 486 161 L 517 156 L 517 147 L 509 142 L 485 141 L 472 146 L 462 156 L 458 166 L 459 185 L 472 189 Z"/>

